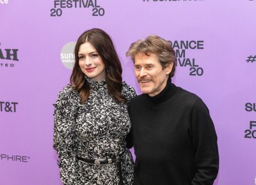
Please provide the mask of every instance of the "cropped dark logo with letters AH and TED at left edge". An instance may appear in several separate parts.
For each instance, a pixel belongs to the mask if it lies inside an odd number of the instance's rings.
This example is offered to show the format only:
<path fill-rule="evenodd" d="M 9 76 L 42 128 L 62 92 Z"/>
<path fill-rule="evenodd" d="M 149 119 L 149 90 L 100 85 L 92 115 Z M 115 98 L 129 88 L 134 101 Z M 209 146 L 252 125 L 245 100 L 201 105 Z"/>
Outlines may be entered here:
<path fill-rule="evenodd" d="M 1 0 L 0 0 L 1 1 Z M 1 45 L 1 43 L 0 43 Z M 1 67 L 14 67 L 14 63 L 1 63 L 2 60 L 5 61 L 19 61 L 18 59 L 18 49 L 0 48 L 0 66 Z"/>

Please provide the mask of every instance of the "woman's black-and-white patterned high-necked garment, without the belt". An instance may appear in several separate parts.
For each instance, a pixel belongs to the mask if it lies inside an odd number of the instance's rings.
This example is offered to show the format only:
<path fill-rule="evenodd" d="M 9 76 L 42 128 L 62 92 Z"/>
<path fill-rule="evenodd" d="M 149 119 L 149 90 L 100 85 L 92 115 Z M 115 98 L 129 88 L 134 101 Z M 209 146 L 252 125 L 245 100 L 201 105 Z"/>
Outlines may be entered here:
<path fill-rule="evenodd" d="M 118 103 L 109 95 L 106 80 L 86 78 L 91 91 L 84 105 L 78 93 L 67 85 L 58 94 L 54 111 L 54 149 L 60 160 L 60 176 L 64 184 L 117 185 L 115 163 L 96 166 L 75 158 L 111 158 L 122 155 L 124 184 L 133 184 L 134 162 L 127 149 L 125 136 L 131 130 L 127 103 Z M 128 100 L 136 96 L 134 89 L 123 82 L 122 94 Z"/>

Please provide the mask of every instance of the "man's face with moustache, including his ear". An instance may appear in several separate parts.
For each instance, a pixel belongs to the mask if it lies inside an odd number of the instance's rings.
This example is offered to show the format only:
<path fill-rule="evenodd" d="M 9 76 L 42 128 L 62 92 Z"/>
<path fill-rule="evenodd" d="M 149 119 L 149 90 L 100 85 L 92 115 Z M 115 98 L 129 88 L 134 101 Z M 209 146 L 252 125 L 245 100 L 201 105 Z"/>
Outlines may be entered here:
<path fill-rule="evenodd" d="M 142 93 L 156 96 L 163 91 L 172 65 L 163 69 L 156 54 L 137 54 L 134 57 L 135 75 Z"/>

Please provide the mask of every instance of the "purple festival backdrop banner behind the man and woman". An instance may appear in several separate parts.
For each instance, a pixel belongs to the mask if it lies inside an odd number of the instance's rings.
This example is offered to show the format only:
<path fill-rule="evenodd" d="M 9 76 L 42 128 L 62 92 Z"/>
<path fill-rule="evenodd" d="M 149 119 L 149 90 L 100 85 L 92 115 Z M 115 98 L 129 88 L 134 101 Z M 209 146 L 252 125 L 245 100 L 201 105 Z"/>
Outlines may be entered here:
<path fill-rule="evenodd" d="M 218 134 L 215 185 L 256 176 L 256 0 L 0 0 L 0 184 L 61 184 L 52 149 L 54 103 L 74 45 L 106 31 L 123 80 L 140 94 L 132 42 L 157 34 L 178 58 L 173 82 L 204 100 Z"/>

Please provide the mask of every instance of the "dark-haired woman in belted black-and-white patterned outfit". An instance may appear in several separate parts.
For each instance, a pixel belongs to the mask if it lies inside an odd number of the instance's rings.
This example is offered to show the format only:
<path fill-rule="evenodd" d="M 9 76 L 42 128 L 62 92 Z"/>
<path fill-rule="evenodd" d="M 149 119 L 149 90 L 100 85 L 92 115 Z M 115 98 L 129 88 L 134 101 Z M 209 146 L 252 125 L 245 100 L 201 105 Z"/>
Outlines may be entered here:
<path fill-rule="evenodd" d="M 125 137 L 127 103 L 136 96 L 122 82 L 122 66 L 107 33 L 85 31 L 77 40 L 74 69 L 58 94 L 54 149 L 64 184 L 133 184 L 133 160 Z"/>

